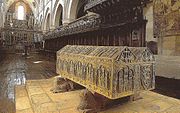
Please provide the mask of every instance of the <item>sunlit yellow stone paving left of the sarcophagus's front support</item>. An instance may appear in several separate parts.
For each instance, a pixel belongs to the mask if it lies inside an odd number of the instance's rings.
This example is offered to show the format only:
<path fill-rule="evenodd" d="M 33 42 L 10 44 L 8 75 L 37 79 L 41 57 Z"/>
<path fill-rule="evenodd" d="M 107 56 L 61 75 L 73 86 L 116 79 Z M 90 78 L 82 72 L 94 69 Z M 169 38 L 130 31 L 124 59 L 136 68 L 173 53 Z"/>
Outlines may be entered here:
<path fill-rule="evenodd" d="M 16 113 L 76 113 L 80 90 L 51 93 L 53 80 L 31 80 L 16 86 Z M 23 103 L 23 104 L 22 104 Z"/>

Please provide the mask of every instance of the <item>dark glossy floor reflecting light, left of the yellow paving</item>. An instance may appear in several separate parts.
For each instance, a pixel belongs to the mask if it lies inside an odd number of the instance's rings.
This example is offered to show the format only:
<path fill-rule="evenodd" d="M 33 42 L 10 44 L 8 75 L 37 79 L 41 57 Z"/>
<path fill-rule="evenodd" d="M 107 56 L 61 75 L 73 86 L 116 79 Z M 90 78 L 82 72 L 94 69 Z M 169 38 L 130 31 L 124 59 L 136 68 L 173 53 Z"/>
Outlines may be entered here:
<path fill-rule="evenodd" d="M 1 53 L 2 55 L 2 53 Z M 14 86 L 55 76 L 55 63 L 38 54 L 5 54 L 0 61 L 0 113 L 14 113 Z"/>

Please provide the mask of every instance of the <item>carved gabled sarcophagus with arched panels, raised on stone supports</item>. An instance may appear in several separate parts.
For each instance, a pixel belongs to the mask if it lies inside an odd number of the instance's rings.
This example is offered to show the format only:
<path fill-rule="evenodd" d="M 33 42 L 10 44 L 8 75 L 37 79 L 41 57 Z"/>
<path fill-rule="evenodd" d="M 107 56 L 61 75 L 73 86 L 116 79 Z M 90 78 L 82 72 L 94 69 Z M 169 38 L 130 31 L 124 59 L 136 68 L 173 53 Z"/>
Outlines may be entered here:
<path fill-rule="evenodd" d="M 57 73 L 109 99 L 155 87 L 155 59 L 148 48 L 71 46 L 57 52 Z"/>

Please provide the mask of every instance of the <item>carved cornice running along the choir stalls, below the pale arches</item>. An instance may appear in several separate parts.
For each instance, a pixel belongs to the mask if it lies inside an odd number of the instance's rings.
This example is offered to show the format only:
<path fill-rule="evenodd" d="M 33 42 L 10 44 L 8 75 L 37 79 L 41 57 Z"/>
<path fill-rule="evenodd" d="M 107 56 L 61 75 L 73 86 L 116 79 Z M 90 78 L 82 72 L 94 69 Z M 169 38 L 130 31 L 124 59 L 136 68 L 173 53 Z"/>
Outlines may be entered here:
<path fill-rule="evenodd" d="M 47 32 L 44 39 L 57 38 L 71 34 L 77 34 L 95 30 L 100 26 L 100 17 L 97 14 L 81 17 L 66 26 L 60 26 L 53 31 Z"/>

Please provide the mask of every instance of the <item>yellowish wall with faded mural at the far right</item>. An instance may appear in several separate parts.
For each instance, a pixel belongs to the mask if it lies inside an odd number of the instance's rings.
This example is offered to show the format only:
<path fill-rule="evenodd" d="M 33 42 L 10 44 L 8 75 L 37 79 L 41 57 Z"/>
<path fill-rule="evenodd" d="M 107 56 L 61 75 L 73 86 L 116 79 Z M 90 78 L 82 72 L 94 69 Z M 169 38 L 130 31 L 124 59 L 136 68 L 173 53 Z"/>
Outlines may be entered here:
<path fill-rule="evenodd" d="M 154 0 L 154 35 L 158 53 L 180 55 L 180 1 Z"/>

